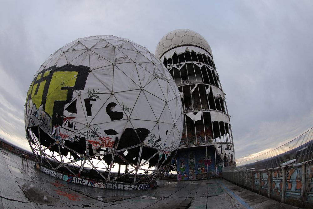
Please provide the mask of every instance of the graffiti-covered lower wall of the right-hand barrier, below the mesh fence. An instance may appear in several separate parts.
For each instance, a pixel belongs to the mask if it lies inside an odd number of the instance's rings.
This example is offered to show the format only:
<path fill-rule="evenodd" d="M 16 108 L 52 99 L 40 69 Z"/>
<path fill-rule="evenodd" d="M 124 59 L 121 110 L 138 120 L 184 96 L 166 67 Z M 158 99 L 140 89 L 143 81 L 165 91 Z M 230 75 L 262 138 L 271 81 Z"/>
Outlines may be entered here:
<path fill-rule="evenodd" d="M 313 160 L 274 169 L 223 171 L 223 178 L 277 201 L 313 208 Z"/>

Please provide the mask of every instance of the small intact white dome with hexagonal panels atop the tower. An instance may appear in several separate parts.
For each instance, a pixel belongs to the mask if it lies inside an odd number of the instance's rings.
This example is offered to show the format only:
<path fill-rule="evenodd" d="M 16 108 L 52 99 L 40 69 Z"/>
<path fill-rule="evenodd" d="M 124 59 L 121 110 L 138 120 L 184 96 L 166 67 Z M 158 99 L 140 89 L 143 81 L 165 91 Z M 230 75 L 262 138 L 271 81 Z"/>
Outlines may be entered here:
<path fill-rule="evenodd" d="M 189 29 L 177 29 L 165 34 L 156 46 L 155 55 L 160 58 L 166 51 L 180 45 L 196 45 L 210 53 L 212 50 L 207 40 L 202 35 Z"/>

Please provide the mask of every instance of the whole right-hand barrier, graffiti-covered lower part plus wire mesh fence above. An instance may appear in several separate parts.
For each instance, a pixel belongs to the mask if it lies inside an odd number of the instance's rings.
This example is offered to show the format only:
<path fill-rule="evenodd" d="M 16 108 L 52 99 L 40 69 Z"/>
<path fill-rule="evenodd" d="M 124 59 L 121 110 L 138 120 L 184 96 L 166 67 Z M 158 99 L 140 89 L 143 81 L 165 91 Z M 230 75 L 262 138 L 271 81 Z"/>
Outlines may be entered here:
<path fill-rule="evenodd" d="M 244 162 L 249 164 L 223 168 L 223 178 L 263 196 L 313 208 L 313 128 Z"/>

